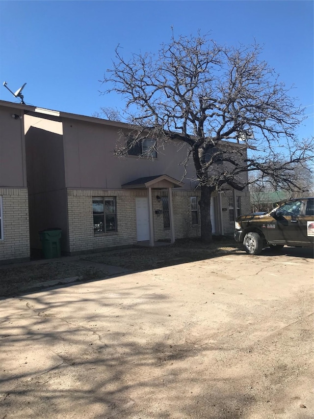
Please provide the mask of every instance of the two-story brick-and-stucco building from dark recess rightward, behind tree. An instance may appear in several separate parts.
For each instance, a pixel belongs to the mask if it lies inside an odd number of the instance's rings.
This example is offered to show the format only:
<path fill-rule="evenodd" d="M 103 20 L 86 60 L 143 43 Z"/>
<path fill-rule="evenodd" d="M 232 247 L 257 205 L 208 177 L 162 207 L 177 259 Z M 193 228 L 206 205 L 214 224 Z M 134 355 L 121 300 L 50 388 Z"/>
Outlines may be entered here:
<path fill-rule="evenodd" d="M 23 131 L 24 121 L 24 154 L 16 165 L 27 180 L 34 255 L 41 250 L 38 232 L 53 227 L 62 230 L 62 254 L 200 235 L 200 192 L 193 163 L 181 164 L 188 151 L 182 142 L 152 151 L 145 140 L 117 157 L 119 132 L 128 132 L 128 124 L 11 105 L 22 119 L 7 115 L 10 123 L 20 123 Z M 248 191 L 213 194 L 213 233 L 232 233 L 235 217 L 248 212 L 249 204 Z M 3 211 L 3 223 L 6 218 Z"/>

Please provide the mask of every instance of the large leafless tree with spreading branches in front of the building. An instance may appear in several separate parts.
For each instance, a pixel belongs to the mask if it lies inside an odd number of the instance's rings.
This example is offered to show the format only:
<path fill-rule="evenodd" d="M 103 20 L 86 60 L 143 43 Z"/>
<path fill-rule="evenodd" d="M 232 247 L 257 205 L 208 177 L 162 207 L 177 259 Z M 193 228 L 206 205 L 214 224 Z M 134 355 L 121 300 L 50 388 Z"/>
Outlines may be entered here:
<path fill-rule="evenodd" d="M 204 241 L 212 239 L 213 191 L 224 185 L 242 191 L 253 171 L 289 185 L 293 164 L 310 158 L 313 140 L 294 134 L 303 111 L 260 59 L 258 45 L 226 48 L 200 34 L 172 35 L 157 55 L 124 59 L 120 51 L 104 76 L 104 93 L 122 95 L 136 129 L 118 151 L 143 138 L 156 139 L 155 147 L 173 140 L 188 145 Z"/>

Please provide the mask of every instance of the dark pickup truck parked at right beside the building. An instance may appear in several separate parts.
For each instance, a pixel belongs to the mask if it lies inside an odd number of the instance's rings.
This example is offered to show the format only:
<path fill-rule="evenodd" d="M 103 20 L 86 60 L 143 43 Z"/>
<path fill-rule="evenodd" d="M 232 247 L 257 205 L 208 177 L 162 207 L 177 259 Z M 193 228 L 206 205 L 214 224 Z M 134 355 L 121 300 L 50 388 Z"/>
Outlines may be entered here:
<path fill-rule="evenodd" d="M 314 198 L 289 199 L 270 212 L 241 215 L 235 220 L 235 241 L 249 254 L 263 247 L 314 246 Z"/>

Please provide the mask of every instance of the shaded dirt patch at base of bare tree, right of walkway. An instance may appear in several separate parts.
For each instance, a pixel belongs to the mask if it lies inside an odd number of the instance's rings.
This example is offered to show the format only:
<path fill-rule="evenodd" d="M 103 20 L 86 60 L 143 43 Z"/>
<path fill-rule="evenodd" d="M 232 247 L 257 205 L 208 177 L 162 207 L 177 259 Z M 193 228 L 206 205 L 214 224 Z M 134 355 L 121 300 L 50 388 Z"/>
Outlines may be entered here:
<path fill-rule="evenodd" d="M 163 268 L 180 263 L 195 262 L 235 252 L 239 248 L 227 239 L 204 244 L 200 240 L 180 240 L 172 246 L 140 247 L 127 251 L 107 251 L 84 255 L 80 260 L 121 266 L 134 271 Z"/>

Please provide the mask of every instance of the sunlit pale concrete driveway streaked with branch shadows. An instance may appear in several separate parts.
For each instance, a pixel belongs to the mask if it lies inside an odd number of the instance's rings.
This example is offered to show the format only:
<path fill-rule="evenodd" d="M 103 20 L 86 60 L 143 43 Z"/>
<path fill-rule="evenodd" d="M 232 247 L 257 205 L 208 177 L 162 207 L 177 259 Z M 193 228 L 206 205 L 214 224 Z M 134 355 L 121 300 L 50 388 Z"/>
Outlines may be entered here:
<path fill-rule="evenodd" d="M 314 418 L 312 253 L 1 300 L 0 418 Z"/>

